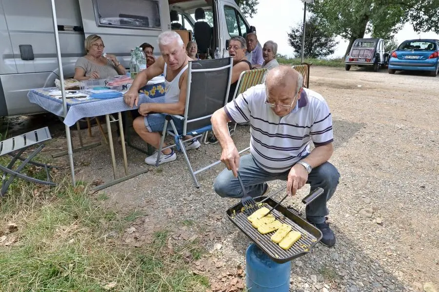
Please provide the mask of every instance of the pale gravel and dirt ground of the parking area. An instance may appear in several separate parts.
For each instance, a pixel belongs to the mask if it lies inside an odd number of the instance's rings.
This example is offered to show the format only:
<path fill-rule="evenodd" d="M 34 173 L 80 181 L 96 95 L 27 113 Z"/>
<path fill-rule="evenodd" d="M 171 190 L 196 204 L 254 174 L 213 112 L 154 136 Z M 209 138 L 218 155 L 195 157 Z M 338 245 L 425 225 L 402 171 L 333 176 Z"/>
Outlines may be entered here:
<path fill-rule="evenodd" d="M 292 262 L 291 291 L 427 291 L 439 285 L 439 77 L 425 74 L 372 72 L 353 67 L 312 67 L 310 89 L 327 100 L 332 111 L 335 151 L 330 161 L 341 178 L 329 202 L 335 247 L 320 244 Z M 41 122 L 41 117 L 39 122 Z M 63 126 L 46 116 L 54 141 L 45 149 L 65 148 Z M 18 131 L 35 126 L 35 118 L 10 126 Z M 247 147 L 249 129 L 239 126 L 234 140 Z M 77 141 L 77 133 L 73 132 Z M 96 127 L 86 142 L 102 140 Z M 103 142 L 103 140 L 102 140 Z M 138 138 L 135 141 L 141 142 Z M 116 144 L 118 175 L 123 174 L 120 145 Z M 220 145 L 189 152 L 198 169 L 220 157 Z M 200 173 L 196 189 L 183 156 L 159 168 L 146 166 L 145 155 L 128 148 L 130 171 L 148 172 L 107 188 L 103 201 L 120 213 L 136 210 L 140 217 L 122 234 L 122 243 L 148 244 L 153 232 L 169 230 L 168 247 L 193 241 L 206 251 L 192 263 L 194 273 L 207 275 L 213 291 L 243 287 L 245 250 L 250 240 L 226 217 L 237 200 L 213 191 L 218 165 Z M 112 179 L 108 146 L 74 154 L 78 179 Z M 67 157 L 53 160 L 66 166 Z M 65 167 L 66 171 L 68 168 Z M 285 182 L 270 182 L 272 192 Z M 298 203 L 308 189 L 288 198 Z M 279 199 L 283 193 L 276 198 Z M 436 288 L 435 288 L 436 287 Z"/>

